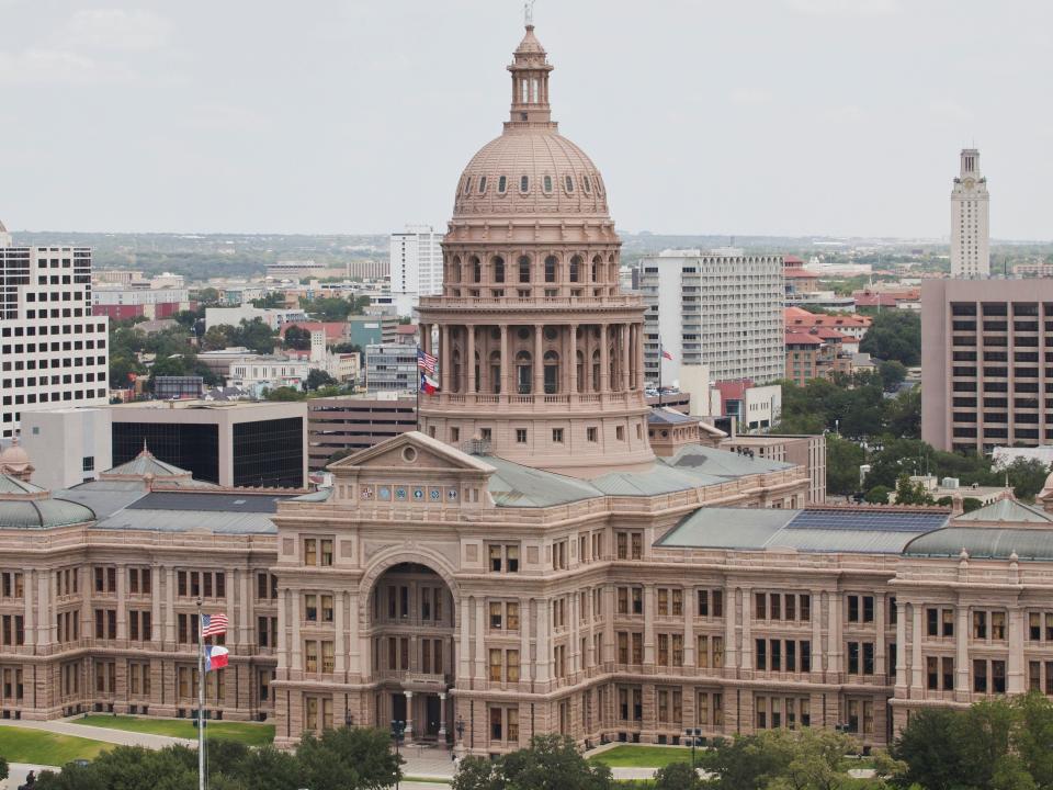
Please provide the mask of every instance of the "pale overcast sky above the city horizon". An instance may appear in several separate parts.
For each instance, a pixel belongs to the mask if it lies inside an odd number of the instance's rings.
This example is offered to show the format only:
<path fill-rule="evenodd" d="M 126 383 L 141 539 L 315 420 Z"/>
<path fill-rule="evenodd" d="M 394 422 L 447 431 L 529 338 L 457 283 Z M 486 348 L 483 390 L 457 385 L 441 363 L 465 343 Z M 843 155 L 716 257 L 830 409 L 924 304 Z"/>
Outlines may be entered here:
<path fill-rule="evenodd" d="M 0 0 L 10 229 L 443 225 L 519 0 Z M 1048 0 L 540 0 L 553 114 L 627 230 L 1049 239 Z"/>

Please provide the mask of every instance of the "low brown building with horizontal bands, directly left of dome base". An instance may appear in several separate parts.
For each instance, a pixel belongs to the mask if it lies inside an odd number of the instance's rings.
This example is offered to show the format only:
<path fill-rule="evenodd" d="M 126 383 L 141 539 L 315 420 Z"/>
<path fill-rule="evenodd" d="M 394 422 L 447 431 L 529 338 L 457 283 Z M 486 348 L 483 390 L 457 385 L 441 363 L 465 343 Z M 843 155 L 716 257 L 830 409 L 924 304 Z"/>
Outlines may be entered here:
<path fill-rule="evenodd" d="M 423 396 L 421 396 L 423 397 Z M 307 402 L 307 452 L 312 472 L 335 453 L 366 450 L 417 428 L 417 395 L 382 392 Z"/>

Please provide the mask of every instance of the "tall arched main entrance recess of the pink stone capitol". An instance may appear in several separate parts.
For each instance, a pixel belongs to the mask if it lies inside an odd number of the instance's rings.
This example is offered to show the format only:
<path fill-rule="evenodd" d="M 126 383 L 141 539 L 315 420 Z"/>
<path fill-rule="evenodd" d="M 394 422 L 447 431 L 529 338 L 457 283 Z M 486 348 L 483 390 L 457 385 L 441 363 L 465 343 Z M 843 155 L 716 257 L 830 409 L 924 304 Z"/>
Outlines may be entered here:
<path fill-rule="evenodd" d="M 455 608 L 427 565 L 399 563 L 370 591 L 369 637 L 375 721 L 406 722 L 406 737 L 445 743 L 452 732 Z"/>

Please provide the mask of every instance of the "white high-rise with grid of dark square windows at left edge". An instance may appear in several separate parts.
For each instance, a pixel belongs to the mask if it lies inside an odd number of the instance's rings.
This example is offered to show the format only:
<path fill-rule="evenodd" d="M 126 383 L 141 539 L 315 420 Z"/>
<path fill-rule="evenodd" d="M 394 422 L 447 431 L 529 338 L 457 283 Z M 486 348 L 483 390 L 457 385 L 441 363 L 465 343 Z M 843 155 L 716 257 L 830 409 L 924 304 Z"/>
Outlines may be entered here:
<path fill-rule="evenodd" d="M 91 314 L 90 248 L 0 246 L 4 438 L 23 411 L 107 403 L 107 321 Z"/>

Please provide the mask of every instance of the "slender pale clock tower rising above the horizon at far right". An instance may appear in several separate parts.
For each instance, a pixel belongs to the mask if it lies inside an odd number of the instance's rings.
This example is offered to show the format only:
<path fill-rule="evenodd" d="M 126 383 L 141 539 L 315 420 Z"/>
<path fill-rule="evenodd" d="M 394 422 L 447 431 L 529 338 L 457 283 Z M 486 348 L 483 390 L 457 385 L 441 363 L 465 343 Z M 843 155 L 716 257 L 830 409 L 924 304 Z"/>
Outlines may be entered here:
<path fill-rule="evenodd" d="M 964 148 L 961 173 L 951 190 L 951 276 L 990 274 L 989 195 L 980 172 L 980 151 Z"/>

